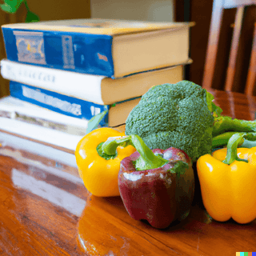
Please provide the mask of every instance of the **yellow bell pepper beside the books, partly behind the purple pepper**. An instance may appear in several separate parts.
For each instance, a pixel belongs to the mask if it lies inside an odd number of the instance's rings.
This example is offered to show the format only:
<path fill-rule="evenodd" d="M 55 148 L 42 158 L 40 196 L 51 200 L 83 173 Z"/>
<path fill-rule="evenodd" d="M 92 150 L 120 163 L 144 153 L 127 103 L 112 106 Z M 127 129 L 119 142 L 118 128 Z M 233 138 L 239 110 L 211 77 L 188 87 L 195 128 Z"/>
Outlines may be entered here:
<path fill-rule="evenodd" d="M 103 127 L 86 134 L 75 150 L 78 171 L 86 189 L 100 197 L 118 196 L 118 172 L 123 158 L 135 152 L 134 146 L 118 146 L 110 158 L 104 155 L 101 145 L 107 138 L 125 136 L 117 130 Z"/>

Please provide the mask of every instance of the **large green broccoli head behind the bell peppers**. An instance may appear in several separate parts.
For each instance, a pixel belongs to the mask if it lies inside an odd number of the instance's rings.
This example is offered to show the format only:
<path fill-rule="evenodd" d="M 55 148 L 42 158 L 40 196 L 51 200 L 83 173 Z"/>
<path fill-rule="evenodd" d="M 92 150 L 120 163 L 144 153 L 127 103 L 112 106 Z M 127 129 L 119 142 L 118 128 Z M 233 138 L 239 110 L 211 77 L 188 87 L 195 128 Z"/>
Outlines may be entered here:
<path fill-rule="evenodd" d="M 189 81 L 154 86 L 130 112 L 126 134 L 138 134 L 151 149 L 184 150 L 195 162 L 212 149 L 214 116 L 207 94 Z"/>

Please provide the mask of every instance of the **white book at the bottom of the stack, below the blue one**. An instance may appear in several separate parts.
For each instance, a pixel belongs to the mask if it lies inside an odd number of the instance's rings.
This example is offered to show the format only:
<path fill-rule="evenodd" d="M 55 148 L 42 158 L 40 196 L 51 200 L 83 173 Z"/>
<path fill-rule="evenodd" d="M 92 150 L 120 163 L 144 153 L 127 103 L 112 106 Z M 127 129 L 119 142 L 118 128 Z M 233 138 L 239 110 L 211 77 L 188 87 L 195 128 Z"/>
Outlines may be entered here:
<path fill-rule="evenodd" d="M 74 151 L 87 120 L 68 117 L 11 96 L 0 99 L 0 130 Z"/>

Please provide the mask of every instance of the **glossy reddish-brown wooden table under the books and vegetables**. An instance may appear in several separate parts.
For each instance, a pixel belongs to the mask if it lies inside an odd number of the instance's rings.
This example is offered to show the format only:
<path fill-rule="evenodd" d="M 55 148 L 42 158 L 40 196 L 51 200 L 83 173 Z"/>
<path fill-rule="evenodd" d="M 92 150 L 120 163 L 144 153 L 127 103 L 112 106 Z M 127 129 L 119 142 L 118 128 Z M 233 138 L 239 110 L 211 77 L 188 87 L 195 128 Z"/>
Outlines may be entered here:
<path fill-rule="evenodd" d="M 223 114 L 254 119 L 256 98 L 213 94 Z M 156 230 L 130 218 L 120 198 L 91 196 L 78 177 L 73 152 L 2 132 L 0 143 L 0 255 L 234 256 L 256 251 L 256 221 L 215 222 L 198 192 L 183 222 Z"/>

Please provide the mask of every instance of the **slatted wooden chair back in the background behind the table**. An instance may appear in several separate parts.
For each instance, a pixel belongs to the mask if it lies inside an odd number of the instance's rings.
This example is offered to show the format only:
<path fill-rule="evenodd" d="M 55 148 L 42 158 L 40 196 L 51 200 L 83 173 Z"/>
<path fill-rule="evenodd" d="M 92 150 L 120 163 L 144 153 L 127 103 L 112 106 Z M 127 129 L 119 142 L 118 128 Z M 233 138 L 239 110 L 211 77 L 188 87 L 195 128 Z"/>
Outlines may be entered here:
<path fill-rule="evenodd" d="M 237 8 L 234 21 L 234 31 L 230 46 L 230 57 L 226 70 L 226 82 L 223 90 L 234 91 L 234 74 L 236 72 L 236 60 L 238 56 L 239 38 L 242 30 L 242 21 L 245 14 L 246 6 L 256 5 L 256 0 L 214 0 L 212 17 L 210 22 L 210 34 L 206 51 L 206 63 L 202 79 L 202 87 L 209 90 L 214 88 L 213 78 L 216 68 L 216 58 L 218 53 L 218 42 L 220 39 L 220 30 L 222 26 L 223 12 L 225 9 Z M 255 13 L 256 17 L 256 13 Z M 254 24 L 255 25 L 255 24 Z M 254 26 L 253 46 L 250 54 L 250 66 L 248 69 L 246 86 L 243 93 L 248 95 L 254 94 L 256 82 L 256 25 Z"/>

